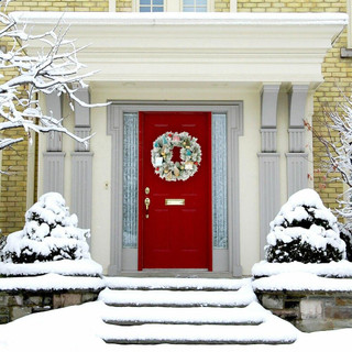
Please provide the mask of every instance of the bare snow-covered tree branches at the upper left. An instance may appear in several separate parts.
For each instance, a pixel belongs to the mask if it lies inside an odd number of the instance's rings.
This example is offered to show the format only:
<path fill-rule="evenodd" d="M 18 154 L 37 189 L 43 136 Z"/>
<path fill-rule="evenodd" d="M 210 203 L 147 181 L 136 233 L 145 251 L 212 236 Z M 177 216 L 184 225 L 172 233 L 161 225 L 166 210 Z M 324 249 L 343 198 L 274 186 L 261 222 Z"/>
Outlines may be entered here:
<path fill-rule="evenodd" d="M 31 131 L 56 131 L 87 146 L 91 135 L 77 136 L 63 125 L 62 119 L 44 113 L 38 103 L 40 94 L 57 94 L 68 97 L 72 110 L 74 102 L 87 108 L 106 106 L 89 105 L 76 96 L 78 89 L 87 88 L 84 79 L 95 74 L 79 73 L 85 65 L 77 54 L 85 47 L 77 48 L 75 41 L 65 40 L 68 28 L 61 29 L 59 23 L 45 33 L 30 34 L 26 25 L 19 26 L 11 14 L 3 12 L 9 2 L 0 0 L 0 41 L 7 44 L 0 48 L 0 150 L 23 141 L 22 136 L 1 136 L 3 131 L 15 128 L 24 129 L 30 141 Z M 30 56 L 26 52 L 34 41 L 41 42 L 42 50 Z"/>

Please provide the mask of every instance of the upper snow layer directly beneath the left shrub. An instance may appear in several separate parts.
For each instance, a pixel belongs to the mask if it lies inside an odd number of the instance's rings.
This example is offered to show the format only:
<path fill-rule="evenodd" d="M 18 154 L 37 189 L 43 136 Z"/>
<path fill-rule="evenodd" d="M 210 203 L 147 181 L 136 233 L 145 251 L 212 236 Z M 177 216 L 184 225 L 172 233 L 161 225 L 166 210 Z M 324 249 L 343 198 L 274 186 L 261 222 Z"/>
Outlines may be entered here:
<path fill-rule="evenodd" d="M 29 264 L 13 264 L 0 262 L 0 275 L 6 276 L 33 276 L 42 274 L 99 276 L 102 266 L 92 260 L 63 260 L 56 262 L 38 262 Z"/>

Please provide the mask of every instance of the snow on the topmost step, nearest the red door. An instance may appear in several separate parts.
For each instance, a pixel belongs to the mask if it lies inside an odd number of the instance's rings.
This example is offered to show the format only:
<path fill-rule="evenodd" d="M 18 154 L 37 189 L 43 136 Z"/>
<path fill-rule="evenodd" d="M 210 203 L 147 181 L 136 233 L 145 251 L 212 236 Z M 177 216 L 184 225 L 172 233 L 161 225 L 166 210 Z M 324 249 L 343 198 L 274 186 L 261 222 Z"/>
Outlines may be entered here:
<path fill-rule="evenodd" d="M 105 279 L 109 288 L 116 289 L 237 290 L 251 283 L 251 278 L 106 277 Z"/>

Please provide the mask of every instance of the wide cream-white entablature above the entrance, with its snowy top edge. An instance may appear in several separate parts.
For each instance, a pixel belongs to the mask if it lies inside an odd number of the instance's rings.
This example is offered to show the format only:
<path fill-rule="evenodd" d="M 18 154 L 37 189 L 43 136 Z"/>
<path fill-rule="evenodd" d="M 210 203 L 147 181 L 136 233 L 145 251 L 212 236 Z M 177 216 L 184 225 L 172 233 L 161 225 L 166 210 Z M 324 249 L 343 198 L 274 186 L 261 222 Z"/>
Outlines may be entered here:
<path fill-rule="evenodd" d="M 309 82 L 348 23 L 340 13 L 14 12 L 38 33 L 61 21 L 100 81 Z M 37 48 L 35 48 L 37 50 Z"/>

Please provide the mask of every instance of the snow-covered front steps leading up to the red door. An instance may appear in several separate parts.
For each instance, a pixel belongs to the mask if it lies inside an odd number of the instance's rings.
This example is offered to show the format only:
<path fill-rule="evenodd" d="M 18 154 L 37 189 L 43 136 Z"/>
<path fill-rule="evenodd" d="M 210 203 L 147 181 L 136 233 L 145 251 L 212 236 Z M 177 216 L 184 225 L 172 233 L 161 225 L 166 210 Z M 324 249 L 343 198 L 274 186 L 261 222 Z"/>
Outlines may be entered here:
<path fill-rule="evenodd" d="M 297 330 L 256 300 L 250 279 L 107 278 L 101 338 L 118 344 L 286 344 Z"/>

